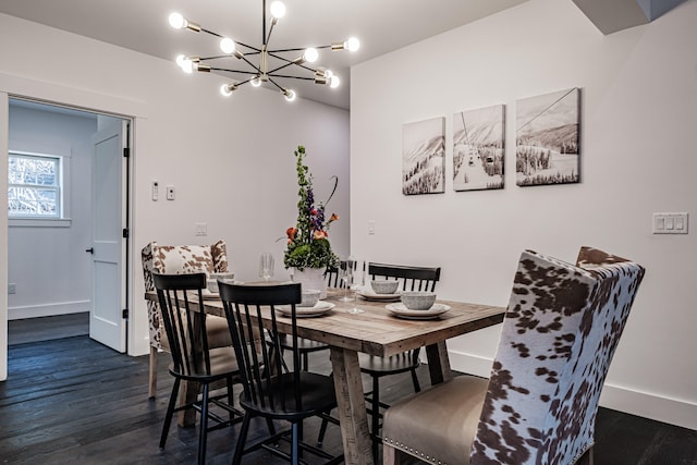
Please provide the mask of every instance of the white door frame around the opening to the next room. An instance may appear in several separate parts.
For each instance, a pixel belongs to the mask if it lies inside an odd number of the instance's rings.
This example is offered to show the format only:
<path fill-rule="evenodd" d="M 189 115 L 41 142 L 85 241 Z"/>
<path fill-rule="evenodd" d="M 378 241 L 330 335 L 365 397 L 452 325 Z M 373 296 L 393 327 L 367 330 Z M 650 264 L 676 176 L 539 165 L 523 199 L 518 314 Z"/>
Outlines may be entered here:
<path fill-rule="evenodd" d="M 131 119 L 131 163 L 129 175 L 131 178 L 131 186 L 129 187 L 129 224 L 131 232 L 129 265 L 126 271 L 126 284 L 129 289 L 134 290 L 134 186 L 135 186 L 135 156 L 136 147 L 139 139 L 144 135 L 144 131 L 139 130 L 138 122 L 147 120 L 147 105 L 143 101 L 131 100 L 129 98 L 97 94 L 84 89 L 70 87 L 66 85 L 53 84 L 49 82 L 35 81 L 24 76 L 7 74 L 0 72 L 0 204 L 7 204 L 8 198 L 8 145 L 9 145 L 9 99 L 23 98 L 38 102 L 65 106 L 84 111 L 91 111 L 101 114 L 109 114 L 117 118 Z M 0 216 L 0 228 L 8 228 L 7 215 Z M 7 234 L 0 236 L 0 287 L 8 285 L 8 241 Z M 135 314 L 134 292 L 131 292 L 126 301 L 130 309 L 130 325 L 127 325 L 127 346 L 130 355 L 139 355 L 142 345 L 136 341 L 137 326 L 133 325 Z M 0 293 L 0 381 L 8 377 L 8 295 Z"/>

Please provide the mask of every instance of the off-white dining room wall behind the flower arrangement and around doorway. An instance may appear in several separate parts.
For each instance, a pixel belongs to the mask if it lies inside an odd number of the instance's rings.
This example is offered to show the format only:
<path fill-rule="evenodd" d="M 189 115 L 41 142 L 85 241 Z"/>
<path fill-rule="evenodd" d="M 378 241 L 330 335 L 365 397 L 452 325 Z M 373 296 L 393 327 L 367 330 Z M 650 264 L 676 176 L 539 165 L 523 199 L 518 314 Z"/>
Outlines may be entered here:
<path fill-rule="evenodd" d="M 222 77 L 184 75 L 173 62 L 8 15 L 0 15 L 0 97 L 28 95 L 135 117 L 131 353 L 148 351 L 139 250 L 149 241 L 222 237 L 240 278 L 256 278 L 265 250 L 276 253 L 277 276 L 288 276 L 280 266 L 284 243 L 276 240 L 295 222 L 298 144 L 307 148 L 318 198 L 328 194 L 330 175 L 340 178 L 329 208 L 343 219 L 330 233 L 338 252 L 348 250 L 347 111 L 302 99 L 288 105 L 278 93 L 249 87 L 222 99 Z M 176 199 L 151 201 L 154 180 L 174 185 Z M 208 223 L 207 237 L 195 236 L 196 222 Z M 0 320 L 5 314 L 0 307 Z M 5 366 L 4 357 L 0 363 Z"/>

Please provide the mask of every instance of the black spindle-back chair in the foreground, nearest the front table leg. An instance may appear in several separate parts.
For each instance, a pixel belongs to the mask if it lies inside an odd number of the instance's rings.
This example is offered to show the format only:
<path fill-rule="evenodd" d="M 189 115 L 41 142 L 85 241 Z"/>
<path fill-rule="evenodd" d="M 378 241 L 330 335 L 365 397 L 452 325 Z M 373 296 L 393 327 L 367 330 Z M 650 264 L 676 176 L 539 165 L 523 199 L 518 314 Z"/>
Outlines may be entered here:
<path fill-rule="evenodd" d="M 337 406 L 332 377 L 306 371 L 302 367 L 295 313 L 296 305 L 301 303 L 301 284 L 243 285 L 219 282 L 219 287 L 240 363 L 243 386 L 240 405 L 245 411 L 233 464 L 240 464 L 245 453 L 259 448 L 284 457 L 292 464 L 301 463 L 304 451 L 328 460 L 328 464 L 342 462 L 343 455 L 332 457 L 326 451 L 303 441 L 304 419 L 319 416 L 332 423 L 338 421 L 327 415 Z M 270 321 L 265 328 L 262 314 L 267 313 Z M 281 325 L 284 326 L 283 331 Z M 265 329 L 271 335 L 272 343 L 258 345 L 259 353 L 252 351 L 255 334 L 264 333 Z M 283 360 L 277 336 L 281 332 L 288 334 L 292 347 L 291 356 L 286 357 L 290 358 L 286 369 L 281 369 Z M 288 421 L 291 429 L 274 432 L 270 428 L 268 438 L 247 445 L 249 424 L 254 417 L 266 418 L 267 424 L 272 420 Z M 279 440 L 288 438 L 289 433 L 290 452 L 277 446 Z"/>

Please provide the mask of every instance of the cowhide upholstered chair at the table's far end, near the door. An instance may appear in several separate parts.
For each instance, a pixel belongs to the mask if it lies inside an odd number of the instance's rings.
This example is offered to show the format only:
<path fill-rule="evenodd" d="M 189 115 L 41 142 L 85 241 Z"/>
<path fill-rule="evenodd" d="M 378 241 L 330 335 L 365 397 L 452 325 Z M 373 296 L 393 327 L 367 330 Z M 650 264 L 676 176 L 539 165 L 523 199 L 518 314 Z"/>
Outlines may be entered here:
<path fill-rule="evenodd" d="M 225 242 L 220 240 L 212 245 L 158 245 L 151 242 L 140 250 L 145 291 L 155 291 L 152 270 L 164 274 L 184 274 L 195 272 L 228 272 L 228 249 Z M 155 397 L 157 391 L 157 354 L 169 352 L 169 343 L 162 325 L 159 306 L 156 302 L 147 301 L 148 320 L 150 328 L 150 367 L 148 380 L 148 396 Z M 231 345 L 228 322 L 221 317 L 210 317 L 208 320 L 209 339 L 215 346 Z"/>

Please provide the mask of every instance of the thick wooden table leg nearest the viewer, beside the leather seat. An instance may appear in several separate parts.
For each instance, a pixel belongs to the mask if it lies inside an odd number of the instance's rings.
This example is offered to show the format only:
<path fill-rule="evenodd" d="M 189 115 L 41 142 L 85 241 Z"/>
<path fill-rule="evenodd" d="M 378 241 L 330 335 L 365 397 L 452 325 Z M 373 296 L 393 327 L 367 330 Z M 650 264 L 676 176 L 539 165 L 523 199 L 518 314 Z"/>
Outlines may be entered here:
<path fill-rule="evenodd" d="M 355 351 L 331 346 L 331 365 L 334 370 L 344 463 L 372 465 L 372 442 L 368 429 L 358 354 Z"/>

